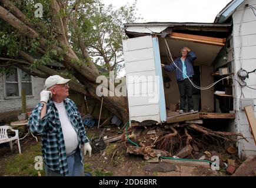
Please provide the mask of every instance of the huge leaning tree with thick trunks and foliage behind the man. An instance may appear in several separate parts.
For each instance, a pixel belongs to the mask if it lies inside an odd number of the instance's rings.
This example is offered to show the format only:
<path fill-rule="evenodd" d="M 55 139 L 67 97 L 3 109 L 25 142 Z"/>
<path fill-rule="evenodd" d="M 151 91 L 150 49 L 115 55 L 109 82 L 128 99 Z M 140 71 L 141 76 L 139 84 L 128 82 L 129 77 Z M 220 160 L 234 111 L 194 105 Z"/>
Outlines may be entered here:
<path fill-rule="evenodd" d="M 100 69 L 118 72 L 122 62 L 122 21 L 133 22 L 134 5 L 114 10 L 97 0 L 39 1 L 41 18 L 35 18 L 34 1 L 0 0 L 0 70 L 18 67 L 29 75 L 71 78 L 70 88 L 101 101 L 96 93 Z M 49 68 L 52 62 L 59 71 Z M 63 68 L 64 67 L 64 68 Z M 127 98 L 103 89 L 104 106 L 127 122 Z M 39 94 L 39 93 L 38 93 Z"/>

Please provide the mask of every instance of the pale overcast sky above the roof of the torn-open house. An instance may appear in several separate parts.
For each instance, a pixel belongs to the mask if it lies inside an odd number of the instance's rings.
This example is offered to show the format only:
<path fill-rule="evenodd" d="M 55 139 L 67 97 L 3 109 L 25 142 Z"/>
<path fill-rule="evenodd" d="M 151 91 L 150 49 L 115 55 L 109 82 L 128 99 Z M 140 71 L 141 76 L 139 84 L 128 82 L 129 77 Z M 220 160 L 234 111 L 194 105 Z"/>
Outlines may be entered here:
<path fill-rule="evenodd" d="M 134 0 L 102 0 L 116 8 Z M 215 16 L 231 0 L 138 0 L 137 16 L 145 22 L 205 22 L 213 23 Z M 125 23 L 124 23 L 125 24 Z M 124 76 L 123 70 L 118 77 Z"/>

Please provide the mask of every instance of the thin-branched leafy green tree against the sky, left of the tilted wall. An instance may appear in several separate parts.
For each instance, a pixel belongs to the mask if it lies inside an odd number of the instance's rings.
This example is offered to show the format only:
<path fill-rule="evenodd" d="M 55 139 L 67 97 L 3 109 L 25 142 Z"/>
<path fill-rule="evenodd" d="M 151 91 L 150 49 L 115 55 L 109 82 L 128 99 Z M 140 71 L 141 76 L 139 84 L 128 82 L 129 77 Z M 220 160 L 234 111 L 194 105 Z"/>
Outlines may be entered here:
<path fill-rule="evenodd" d="M 85 3 L 85 1 L 82 1 Z M 79 51 L 77 35 L 85 42 L 89 55 L 94 63 L 106 70 L 122 69 L 117 62 L 122 61 L 122 39 L 126 38 L 122 29 L 125 22 L 137 21 L 135 16 L 136 2 L 115 9 L 112 5 L 106 6 L 100 1 L 77 6 L 72 12 L 69 28 L 71 29 L 72 46 Z M 77 31 L 75 26 L 80 28 Z"/>

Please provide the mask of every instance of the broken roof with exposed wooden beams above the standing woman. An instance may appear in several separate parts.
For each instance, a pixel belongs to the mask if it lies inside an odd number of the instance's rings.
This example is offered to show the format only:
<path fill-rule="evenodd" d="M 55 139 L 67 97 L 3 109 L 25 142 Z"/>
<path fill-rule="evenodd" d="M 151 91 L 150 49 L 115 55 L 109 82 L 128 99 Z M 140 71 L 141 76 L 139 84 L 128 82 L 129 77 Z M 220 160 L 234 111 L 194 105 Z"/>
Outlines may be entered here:
<path fill-rule="evenodd" d="M 231 24 L 211 24 L 211 23 L 192 23 L 192 22 L 149 22 L 124 24 L 125 33 L 129 38 L 135 38 L 145 35 L 159 35 L 159 49 L 161 56 L 167 56 L 165 51 L 165 42 L 171 48 L 174 57 L 179 56 L 182 46 L 189 46 L 198 56 L 195 61 L 196 65 L 211 66 L 215 57 L 222 46 L 225 38 L 231 33 Z M 169 35 L 168 37 L 165 37 Z M 204 39 L 222 39 L 223 42 L 214 43 L 204 41 Z M 202 53 L 203 52 L 203 53 Z"/>

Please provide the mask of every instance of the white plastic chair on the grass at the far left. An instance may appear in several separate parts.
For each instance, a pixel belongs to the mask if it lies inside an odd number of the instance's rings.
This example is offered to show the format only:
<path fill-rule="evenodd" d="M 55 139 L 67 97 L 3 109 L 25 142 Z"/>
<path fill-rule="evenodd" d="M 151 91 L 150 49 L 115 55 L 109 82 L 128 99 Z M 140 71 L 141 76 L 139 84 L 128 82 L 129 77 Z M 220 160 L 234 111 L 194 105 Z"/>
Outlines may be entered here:
<path fill-rule="evenodd" d="M 7 135 L 7 130 L 8 129 L 15 132 L 15 136 L 8 137 L 8 135 Z M 9 142 L 9 145 L 10 145 L 11 150 L 12 150 L 12 141 L 13 140 L 17 140 L 18 148 L 19 148 L 19 154 L 21 154 L 21 146 L 19 145 L 19 130 L 14 130 L 14 129 L 12 129 L 11 126 L 8 126 L 8 125 L 0 126 L 0 144 L 5 143 L 5 142 Z"/>

